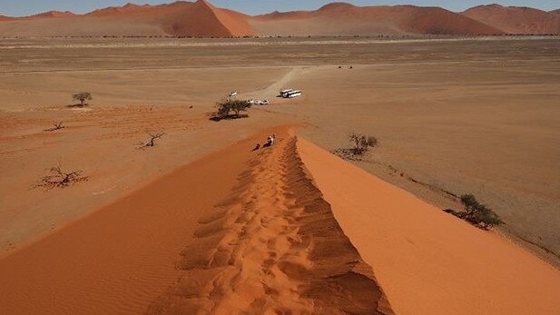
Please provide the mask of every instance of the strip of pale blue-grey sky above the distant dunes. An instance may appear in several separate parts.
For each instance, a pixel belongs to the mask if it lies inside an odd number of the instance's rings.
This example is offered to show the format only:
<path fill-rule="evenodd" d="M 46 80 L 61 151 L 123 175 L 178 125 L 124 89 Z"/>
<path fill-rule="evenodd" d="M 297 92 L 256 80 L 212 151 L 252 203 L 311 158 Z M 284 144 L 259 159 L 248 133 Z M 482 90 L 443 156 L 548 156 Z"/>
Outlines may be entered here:
<path fill-rule="evenodd" d="M 138 5 L 170 3 L 165 0 L 0 0 L 0 15 L 22 16 L 34 15 L 49 10 L 70 10 L 75 13 L 86 13 L 94 9 L 110 6 L 125 5 L 133 2 Z M 192 0 L 194 1 L 194 0 Z M 342 0 L 344 1 L 344 0 Z M 211 0 L 211 4 L 256 15 L 271 11 L 291 11 L 317 9 L 330 2 L 341 0 Z M 492 1 L 492 0 L 489 0 Z M 474 5 L 486 5 L 489 2 L 476 0 L 346 0 L 355 5 L 437 5 L 452 11 L 463 11 Z M 532 6 L 550 11 L 560 8 L 560 0 L 496 0 L 501 5 Z"/>

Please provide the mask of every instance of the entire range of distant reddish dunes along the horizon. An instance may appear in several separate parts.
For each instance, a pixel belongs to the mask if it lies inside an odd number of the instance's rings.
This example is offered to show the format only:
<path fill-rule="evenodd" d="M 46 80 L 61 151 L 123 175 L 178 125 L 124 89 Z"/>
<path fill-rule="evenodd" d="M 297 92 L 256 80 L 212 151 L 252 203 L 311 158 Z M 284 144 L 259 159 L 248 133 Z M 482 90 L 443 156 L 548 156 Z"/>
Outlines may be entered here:
<path fill-rule="evenodd" d="M 415 5 L 325 5 L 315 11 L 250 16 L 205 0 L 110 6 L 85 15 L 49 11 L 0 15 L 5 36 L 491 35 L 560 34 L 560 10 L 480 5 L 463 13 Z"/>

